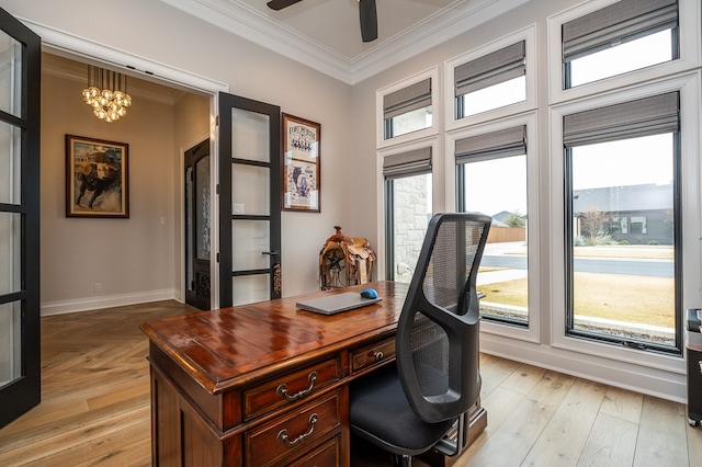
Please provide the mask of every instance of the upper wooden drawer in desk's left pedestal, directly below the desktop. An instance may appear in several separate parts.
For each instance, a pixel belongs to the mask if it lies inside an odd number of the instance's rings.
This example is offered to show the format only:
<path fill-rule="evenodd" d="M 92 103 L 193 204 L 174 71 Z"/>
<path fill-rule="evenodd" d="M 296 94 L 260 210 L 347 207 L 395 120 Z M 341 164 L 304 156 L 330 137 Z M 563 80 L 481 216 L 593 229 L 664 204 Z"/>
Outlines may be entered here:
<path fill-rule="evenodd" d="M 287 403 L 309 398 L 309 396 L 337 381 L 341 376 L 340 368 L 341 366 L 337 358 L 327 360 L 245 390 L 245 420 L 253 419 Z"/>

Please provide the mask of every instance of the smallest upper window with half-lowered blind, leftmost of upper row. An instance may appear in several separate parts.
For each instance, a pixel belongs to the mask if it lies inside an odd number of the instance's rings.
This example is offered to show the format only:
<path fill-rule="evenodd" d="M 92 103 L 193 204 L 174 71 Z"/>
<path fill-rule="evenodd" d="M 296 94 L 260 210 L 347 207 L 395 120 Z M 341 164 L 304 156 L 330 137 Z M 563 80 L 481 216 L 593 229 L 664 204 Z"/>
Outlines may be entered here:
<path fill-rule="evenodd" d="M 431 78 L 383 96 L 384 139 L 430 128 Z"/>

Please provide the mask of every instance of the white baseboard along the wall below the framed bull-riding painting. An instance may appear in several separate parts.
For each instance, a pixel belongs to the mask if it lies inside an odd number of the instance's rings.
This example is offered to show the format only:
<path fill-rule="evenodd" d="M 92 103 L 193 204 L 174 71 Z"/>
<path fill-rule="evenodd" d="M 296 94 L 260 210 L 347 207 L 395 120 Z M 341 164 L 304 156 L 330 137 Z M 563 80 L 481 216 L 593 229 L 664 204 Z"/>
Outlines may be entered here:
<path fill-rule="evenodd" d="M 160 300 L 179 300 L 180 293 L 173 288 L 146 291 L 133 294 L 106 295 L 100 297 L 78 298 L 75 300 L 49 301 L 42 304 L 42 316 L 64 315 L 77 311 L 89 311 L 102 308 L 124 307 Z"/>

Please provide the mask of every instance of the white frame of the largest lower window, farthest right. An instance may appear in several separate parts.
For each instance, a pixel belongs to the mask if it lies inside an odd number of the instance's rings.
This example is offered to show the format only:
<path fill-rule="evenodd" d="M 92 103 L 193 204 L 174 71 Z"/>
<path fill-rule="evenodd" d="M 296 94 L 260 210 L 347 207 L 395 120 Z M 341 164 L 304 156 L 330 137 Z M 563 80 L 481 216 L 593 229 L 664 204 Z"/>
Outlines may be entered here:
<path fill-rule="evenodd" d="M 574 351 L 592 356 L 607 355 L 609 360 L 641 365 L 644 367 L 684 374 L 684 361 L 677 355 L 664 355 L 642 352 L 608 344 L 577 339 L 566 334 L 565 316 L 565 238 L 564 215 L 564 149 L 563 117 L 577 112 L 613 105 L 621 102 L 642 99 L 666 92 L 680 92 L 681 119 L 681 173 L 682 180 L 682 244 L 684 261 L 682 264 L 682 309 L 699 307 L 700 270 L 702 261 L 700 242 L 702 213 L 698 206 L 700 198 L 700 71 L 689 72 L 658 82 L 633 87 L 613 94 L 603 94 L 592 99 L 566 103 L 550 109 L 551 122 L 551 343 L 553 348 Z M 682 319 L 682 318 L 681 318 Z"/>

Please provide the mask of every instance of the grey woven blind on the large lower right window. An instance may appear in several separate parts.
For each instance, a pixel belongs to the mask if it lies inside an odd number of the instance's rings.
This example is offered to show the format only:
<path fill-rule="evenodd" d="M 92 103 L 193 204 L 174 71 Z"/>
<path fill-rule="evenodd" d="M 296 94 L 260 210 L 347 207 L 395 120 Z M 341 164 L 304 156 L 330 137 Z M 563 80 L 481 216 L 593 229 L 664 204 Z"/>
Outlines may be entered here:
<path fill-rule="evenodd" d="M 677 132 L 680 96 L 669 92 L 563 117 L 567 147 Z"/>

